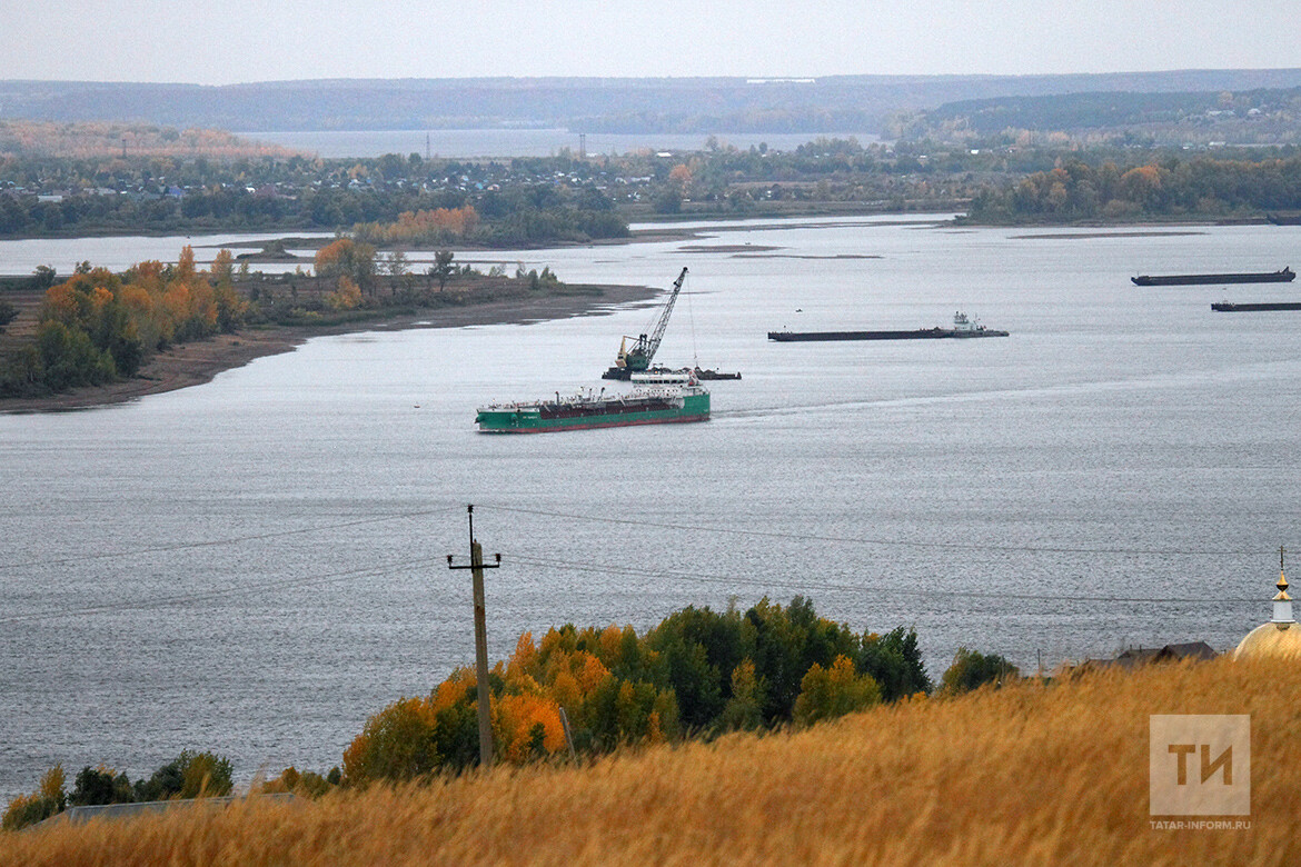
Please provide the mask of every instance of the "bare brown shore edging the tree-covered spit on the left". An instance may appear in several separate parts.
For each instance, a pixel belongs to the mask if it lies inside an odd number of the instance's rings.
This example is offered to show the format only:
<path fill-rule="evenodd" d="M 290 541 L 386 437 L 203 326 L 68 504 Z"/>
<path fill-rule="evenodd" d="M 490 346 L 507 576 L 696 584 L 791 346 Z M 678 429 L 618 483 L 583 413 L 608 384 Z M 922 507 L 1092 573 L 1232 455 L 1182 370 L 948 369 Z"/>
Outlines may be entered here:
<path fill-rule="evenodd" d="M 0 415 L 78 412 L 177 391 L 211 382 L 219 373 L 241 368 L 255 359 L 291 352 L 316 337 L 470 325 L 528 325 L 576 316 L 605 316 L 613 312 L 610 308 L 650 300 L 661 291 L 649 286 L 570 285 L 565 292 L 377 316 L 345 325 L 246 328 L 234 334 L 173 346 L 151 357 L 130 380 L 43 398 L 0 400 Z"/>

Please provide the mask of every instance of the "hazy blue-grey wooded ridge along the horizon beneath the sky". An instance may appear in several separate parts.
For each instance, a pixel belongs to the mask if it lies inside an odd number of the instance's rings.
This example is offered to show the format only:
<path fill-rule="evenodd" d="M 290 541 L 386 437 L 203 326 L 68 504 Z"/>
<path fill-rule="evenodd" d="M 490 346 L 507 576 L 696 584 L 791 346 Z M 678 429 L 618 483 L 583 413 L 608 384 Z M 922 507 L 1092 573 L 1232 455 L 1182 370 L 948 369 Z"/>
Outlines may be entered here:
<path fill-rule="evenodd" d="M 238 131 L 567 127 L 587 133 L 885 133 L 900 113 L 1069 94 L 1301 87 L 1301 69 L 1071 75 L 317 79 L 202 86 L 0 82 L 0 120 Z"/>

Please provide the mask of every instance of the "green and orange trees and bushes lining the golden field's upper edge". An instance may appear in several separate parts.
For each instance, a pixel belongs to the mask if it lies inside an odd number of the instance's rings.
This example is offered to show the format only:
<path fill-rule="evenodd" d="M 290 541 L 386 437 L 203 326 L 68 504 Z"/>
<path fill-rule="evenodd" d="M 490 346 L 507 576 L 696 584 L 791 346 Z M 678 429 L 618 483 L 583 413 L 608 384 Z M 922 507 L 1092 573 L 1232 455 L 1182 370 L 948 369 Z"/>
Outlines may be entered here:
<path fill-rule="evenodd" d="M 621 747 L 774 732 L 834 720 L 876 705 L 951 697 L 1019 677 L 998 655 L 958 651 L 937 689 L 917 634 L 899 627 L 856 633 L 796 597 L 764 598 L 740 612 L 687 607 L 637 634 L 631 627 L 566 624 L 540 641 L 519 637 L 489 672 L 496 755 L 509 764 L 596 758 Z M 569 721 L 569 737 L 561 712 Z M 285 768 L 254 789 L 320 797 L 336 788 L 431 779 L 479 763 L 477 684 L 454 671 L 428 695 L 401 698 L 371 716 L 328 773 Z M 69 806 L 226 794 L 232 766 L 182 751 L 148 779 L 85 767 L 66 792 L 55 766 L 31 794 L 9 802 L 3 828 L 18 829 Z"/>

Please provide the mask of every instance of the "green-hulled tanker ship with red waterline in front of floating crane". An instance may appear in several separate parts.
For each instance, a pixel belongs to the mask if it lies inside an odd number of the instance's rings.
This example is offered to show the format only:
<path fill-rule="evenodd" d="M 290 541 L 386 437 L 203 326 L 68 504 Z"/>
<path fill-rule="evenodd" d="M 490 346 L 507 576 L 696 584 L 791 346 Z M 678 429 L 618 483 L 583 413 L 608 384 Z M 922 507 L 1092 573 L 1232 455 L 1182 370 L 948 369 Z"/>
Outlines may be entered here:
<path fill-rule="evenodd" d="M 695 381 L 682 386 L 634 389 L 623 394 L 591 390 L 554 400 L 500 403 L 480 407 L 479 433 L 548 433 L 660 425 L 709 419 L 709 393 Z"/>

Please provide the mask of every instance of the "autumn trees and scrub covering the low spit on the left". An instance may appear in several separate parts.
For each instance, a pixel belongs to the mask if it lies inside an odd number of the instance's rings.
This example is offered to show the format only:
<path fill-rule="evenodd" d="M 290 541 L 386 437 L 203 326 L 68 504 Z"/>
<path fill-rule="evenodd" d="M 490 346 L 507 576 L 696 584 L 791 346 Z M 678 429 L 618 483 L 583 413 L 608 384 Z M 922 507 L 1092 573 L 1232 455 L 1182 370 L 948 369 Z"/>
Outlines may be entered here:
<path fill-rule="evenodd" d="M 459 214 L 462 221 L 472 217 L 472 212 Z M 449 231 L 437 214 L 428 225 L 419 220 L 414 225 L 440 237 Z M 403 226 L 399 222 L 393 231 Z M 263 253 L 277 251 L 282 246 L 272 243 Z M 144 261 L 114 274 L 87 261 L 62 281 L 42 266 L 9 283 L 39 302 L 21 330 L 14 322 L 18 308 L 0 302 L 0 399 L 130 378 L 168 347 L 245 328 L 323 329 L 418 309 L 593 291 L 566 286 L 550 268 L 520 265 L 507 274 L 497 266 L 485 274 L 457 265 L 450 251 L 437 252 L 433 265 L 418 270 L 399 251 L 377 253 L 353 238 L 327 243 L 311 272 L 299 266 L 291 274 L 251 272 L 247 261 L 235 265 L 229 250 L 200 270 L 193 248 L 185 247 L 174 264 Z"/>

